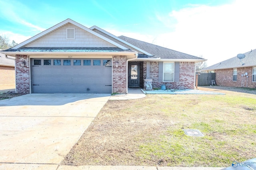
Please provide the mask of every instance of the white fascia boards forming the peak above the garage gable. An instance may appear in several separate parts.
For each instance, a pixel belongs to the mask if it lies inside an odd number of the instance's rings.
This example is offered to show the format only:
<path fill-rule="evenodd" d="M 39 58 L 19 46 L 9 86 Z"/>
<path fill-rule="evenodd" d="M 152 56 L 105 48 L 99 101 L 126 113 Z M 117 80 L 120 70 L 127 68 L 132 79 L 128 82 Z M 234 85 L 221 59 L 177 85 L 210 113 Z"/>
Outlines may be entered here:
<path fill-rule="evenodd" d="M 18 48 L 20 48 L 20 47 L 30 43 L 31 41 L 34 41 L 35 39 L 37 39 L 39 37 L 42 37 L 43 35 L 53 31 L 54 29 L 56 29 L 56 28 L 58 28 L 58 27 L 60 27 L 60 26 L 62 26 L 64 24 L 66 24 L 66 23 L 72 23 L 73 25 L 76 25 L 77 27 L 80 27 L 81 29 L 84 29 L 85 31 L 88 31 L 92 35 L 95 35 L 96 37 L 99 37 L 100 39 L 103 39 L 104 41 L 107 41 L 108 43 L 113 44 L 116 47 L 119 47 L 120 49 L 128 50 L 128 48 L 126 48 L 126 47 L 124 47 L 124 46 L 122 46 L 122 45 L 120 45 L 120 44 L 118 44 L 118 43 L 116 43 L 116 42 L 114 42 L 114 41 L 112 41 L 112 40 L 110 40 L 110 39 L 108 39 L 108 38 L 98 34 L 98 33 L 96 33 L 95 31 L 92 31 L 91 29 L 85 27 L 84 25 L 81 25 L 80 23 L 77 23 L 76 21 L 73 21 L 73 20 L 71 20 L 69 18 L 67 20 L 65 20 L 65 21 L 62 21 L 62 22 L 58 23 L 57 25 L 54 25 L 53 27 L 50 27 L 49 29 L 46 29 L 45 31 L 35 35 L 34 37 L 31 37 L 30 39 L 28 39 L 28 40 L 26 40 L 26 41 L 24 41 L 24 42 L 22 42 L 22 43 L 20 43 L 20 44 L 18 44 L 16 46 L 12 47 L 12 49 L 18 49 Z"/>

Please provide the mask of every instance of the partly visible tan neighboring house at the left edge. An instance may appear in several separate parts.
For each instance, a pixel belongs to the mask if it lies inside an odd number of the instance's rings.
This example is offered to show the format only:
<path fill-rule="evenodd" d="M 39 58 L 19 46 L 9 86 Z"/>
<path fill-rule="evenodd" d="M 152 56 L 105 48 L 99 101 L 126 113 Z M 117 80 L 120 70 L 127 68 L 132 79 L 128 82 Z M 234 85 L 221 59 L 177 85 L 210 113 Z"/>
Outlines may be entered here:
<path fill-rule="evenodd" d="M 1 51 L 1 50 L 0 50 Z M 15 62 L 0 53 L 0 86 L 15 84 Z"/>

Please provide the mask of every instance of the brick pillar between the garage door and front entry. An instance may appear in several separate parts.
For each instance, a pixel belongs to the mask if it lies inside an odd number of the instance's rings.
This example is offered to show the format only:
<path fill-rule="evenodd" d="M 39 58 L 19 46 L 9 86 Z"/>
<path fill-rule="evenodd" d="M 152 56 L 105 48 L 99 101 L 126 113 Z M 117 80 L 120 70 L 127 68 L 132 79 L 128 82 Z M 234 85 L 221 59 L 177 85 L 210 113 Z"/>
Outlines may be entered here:
<path fill-rule="evenodd" d="M 127 85 L 127 72 L 126 72 L 126 56 L 125 55 L 113 55 L 112 57 L 112 92 L 126 94 Z M 118 67 L 116 67 L 118 62 Z"/>

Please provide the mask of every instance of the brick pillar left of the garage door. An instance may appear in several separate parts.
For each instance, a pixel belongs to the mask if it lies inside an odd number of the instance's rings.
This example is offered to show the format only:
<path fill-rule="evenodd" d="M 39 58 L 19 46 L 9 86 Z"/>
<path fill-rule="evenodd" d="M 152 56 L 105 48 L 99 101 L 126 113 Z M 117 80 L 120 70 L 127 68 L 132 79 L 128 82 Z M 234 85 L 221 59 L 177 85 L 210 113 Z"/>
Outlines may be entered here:
<path fill-rule="evenodd" d="M 26 61 L 24 67 L 22 62 Z M 28 55 L 16 55 L 16 92 L 30 93 L 30 74 L 29 74 L 29 57 Z"/>

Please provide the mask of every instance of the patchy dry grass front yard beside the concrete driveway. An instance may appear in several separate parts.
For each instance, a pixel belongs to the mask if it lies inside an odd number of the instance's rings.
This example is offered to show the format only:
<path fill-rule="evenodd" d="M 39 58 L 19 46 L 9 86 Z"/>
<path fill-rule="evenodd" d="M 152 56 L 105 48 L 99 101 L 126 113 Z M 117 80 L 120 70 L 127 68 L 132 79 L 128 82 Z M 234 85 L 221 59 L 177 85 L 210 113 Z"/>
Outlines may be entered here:
<path fill-rule="evenodd" d="M 108 101 L 62 164 L 226 167 L 255 158 L 256 91 L 210 90 L 226 95 Z"/>

